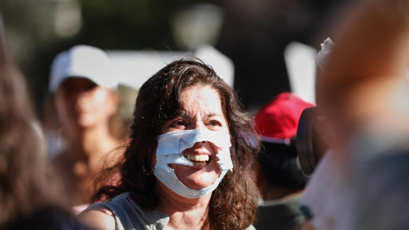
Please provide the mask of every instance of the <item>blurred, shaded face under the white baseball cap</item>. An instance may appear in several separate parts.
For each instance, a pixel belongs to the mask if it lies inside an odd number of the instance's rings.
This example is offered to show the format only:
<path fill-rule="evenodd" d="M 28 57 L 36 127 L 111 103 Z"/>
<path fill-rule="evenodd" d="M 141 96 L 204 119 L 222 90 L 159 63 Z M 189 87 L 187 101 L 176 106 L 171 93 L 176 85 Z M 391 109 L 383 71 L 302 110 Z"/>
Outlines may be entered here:
<path fill-rule="evenodd" d="M 117 97 L 90 80 L 70 78 L 59 86 L 55 106 L 64 130 L 76 132 L 108 125 L 117 109 Z"/>

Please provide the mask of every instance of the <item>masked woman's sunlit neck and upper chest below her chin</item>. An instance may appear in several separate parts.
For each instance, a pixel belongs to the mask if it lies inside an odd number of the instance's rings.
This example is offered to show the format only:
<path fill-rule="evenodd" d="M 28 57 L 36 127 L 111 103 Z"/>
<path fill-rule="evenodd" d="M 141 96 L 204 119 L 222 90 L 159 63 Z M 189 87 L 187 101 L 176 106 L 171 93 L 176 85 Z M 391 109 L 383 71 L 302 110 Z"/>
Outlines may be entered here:
<path fill-rule="evenodd" d="M 168 226 L 178 229 L 209 229 L 208 213 L 212 194 L 199 198 L 180 196 L 156 179 L 157 209 L 168 214 Z"/>

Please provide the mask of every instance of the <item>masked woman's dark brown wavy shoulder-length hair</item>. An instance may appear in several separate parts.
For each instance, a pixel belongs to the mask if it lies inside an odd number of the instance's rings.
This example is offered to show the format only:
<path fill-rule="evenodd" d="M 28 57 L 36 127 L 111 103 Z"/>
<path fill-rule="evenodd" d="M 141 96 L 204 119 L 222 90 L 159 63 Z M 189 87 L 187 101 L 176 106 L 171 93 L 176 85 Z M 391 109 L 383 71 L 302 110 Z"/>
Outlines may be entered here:
<path fill-rule="evenodd" d="M 228 172 L 209 204 L 208 220 L 211 229 L 245 229 L 256 216 L 258 190 L 247 173 L 259 152 L 260 139 L 253 120 L 242 109 L 236 94 L 213 68 L 192 56 L 174 61 L 157 72 L 140 88 L 130 126 L 124 159 L 116 167 L 105 171 L 97 181 L 119 173 L 118 186 L 104 186 L 93 200 L 113 198 L 123 192 L 145 210 L 155 210 L 159 197 L 154 194 L 155 176 L 150 169 L 157 147 L 156 137 L 162 125 L 179 115 L 182 109 L 181 92 L 193 85 L 210 86 L 221 99 L 229 125 L 234 171 Z"/>

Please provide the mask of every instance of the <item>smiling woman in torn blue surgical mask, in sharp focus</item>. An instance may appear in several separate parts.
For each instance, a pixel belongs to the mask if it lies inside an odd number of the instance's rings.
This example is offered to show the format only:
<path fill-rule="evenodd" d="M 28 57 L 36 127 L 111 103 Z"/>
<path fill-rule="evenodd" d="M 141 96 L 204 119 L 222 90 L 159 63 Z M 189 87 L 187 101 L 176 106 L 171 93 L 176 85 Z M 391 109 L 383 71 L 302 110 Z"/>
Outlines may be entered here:
<path fill-rule="evenodd" d="M 80 218 L 95 229 L 253 229 L 258 191 L 246 168 L 260 140 L 233 90 L 185 57 L 139 92 L 124 160 L 111 170 L 122 181 Z"/>

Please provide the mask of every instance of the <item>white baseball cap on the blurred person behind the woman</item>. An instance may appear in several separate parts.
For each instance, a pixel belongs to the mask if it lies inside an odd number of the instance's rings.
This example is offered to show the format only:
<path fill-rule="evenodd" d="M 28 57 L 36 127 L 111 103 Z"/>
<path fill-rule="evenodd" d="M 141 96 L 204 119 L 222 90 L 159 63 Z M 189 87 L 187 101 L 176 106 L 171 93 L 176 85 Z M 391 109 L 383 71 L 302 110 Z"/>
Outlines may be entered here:
<path fill-rule="evenodd" d="M 76 45 L 54 58 L 51 65 L 50 92 L 55 93 L 67 78 L 85 78 L 110 89 L 118 87 L 108 55 L 89 45 Z"/>

